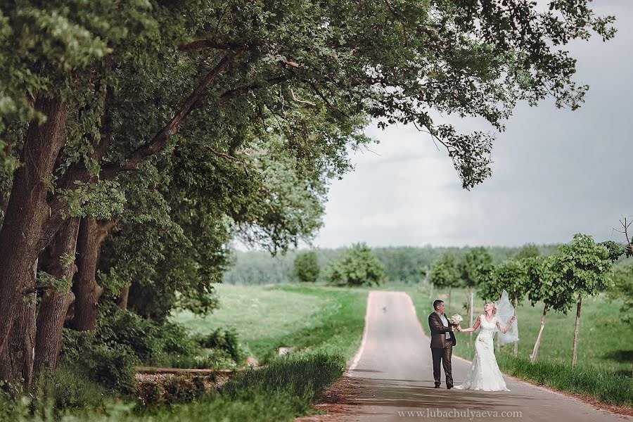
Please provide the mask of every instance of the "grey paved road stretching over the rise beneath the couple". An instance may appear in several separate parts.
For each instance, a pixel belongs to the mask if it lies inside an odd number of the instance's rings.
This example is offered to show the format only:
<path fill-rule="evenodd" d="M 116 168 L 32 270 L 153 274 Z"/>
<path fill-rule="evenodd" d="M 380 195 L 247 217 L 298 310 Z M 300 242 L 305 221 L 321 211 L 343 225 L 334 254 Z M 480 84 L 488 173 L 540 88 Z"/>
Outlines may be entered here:
<path fill-rule="evenodd" d="M 467 334 L 456 335 L 456 347 L 463 347 Z M 331 399 L 319 405 L 329 414 L 297 421 L 627 420 L 506 375 L 509 392 L 446 390 L 442 369 L 442 388 L 436 390 L 429 344 L 409 295 L 372 291 L 359 352 L 347 374 L 328 392 Z M 454 383 L 459 385 L 470 362 L 453 356 L 452 364 Z M 503 413 L 509 411 L 520 414 Z"/>

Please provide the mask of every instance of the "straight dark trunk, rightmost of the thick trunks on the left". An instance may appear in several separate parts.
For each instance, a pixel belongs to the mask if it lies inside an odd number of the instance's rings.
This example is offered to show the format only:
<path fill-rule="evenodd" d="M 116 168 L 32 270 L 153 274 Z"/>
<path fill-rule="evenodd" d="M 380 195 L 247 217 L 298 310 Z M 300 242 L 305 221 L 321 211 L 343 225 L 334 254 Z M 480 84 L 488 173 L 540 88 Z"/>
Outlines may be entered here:
<path fill-rule="evenodd" d="M 72 319 L 72 326 L 77 330 L 94 330 L 97 305 L 103 294 L 103 287 L 96 282 L 96 270 L 101 244 L 114 224 L 115 222 L 100 224 L 92 217 L 85 217 L 79 226 L 77 275 L 72 283 L 72 291 L 75 293 L 75 318 Z"/>

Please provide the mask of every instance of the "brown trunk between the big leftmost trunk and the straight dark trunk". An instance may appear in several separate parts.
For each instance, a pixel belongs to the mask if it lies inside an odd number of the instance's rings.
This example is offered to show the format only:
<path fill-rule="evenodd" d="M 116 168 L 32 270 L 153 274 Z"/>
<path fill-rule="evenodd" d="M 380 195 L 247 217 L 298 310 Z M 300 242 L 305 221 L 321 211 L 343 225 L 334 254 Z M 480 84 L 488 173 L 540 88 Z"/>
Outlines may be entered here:
<path fill-rule="evenodd" d="M 63 286 L 63 289 L 48 288 L 39 305 L 35 336 L 35 373 L 45 368 L 54 371 L 57 366 L 64 319 L 74 298 L 70 291 L 70 283 L 77 271 L 74 259 L 67 264 L 61 261 L 64 255 L 75 257 L 80 219 L 80 217 L 70 217 L 53 238 L 48 272 L 59 281 L 65 281 L 67 286 Z"/>

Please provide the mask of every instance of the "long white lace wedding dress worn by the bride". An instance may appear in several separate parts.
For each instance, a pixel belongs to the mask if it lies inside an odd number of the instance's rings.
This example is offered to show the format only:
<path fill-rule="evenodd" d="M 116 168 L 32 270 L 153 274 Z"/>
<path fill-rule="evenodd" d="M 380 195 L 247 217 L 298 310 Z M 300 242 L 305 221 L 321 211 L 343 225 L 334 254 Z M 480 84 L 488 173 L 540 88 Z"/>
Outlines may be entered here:
<path fill-rule="evenodd" d="M 475 357 L 466 373 L 466 380 L 456 385 L 456 390 L 510 391 L 494 357 L 492 338 L 498 330 L 497 321 L 496 315 L 490 322 L 486 321 L 485 314 L 479 316 L 480 332 L 475 339 Z"/>

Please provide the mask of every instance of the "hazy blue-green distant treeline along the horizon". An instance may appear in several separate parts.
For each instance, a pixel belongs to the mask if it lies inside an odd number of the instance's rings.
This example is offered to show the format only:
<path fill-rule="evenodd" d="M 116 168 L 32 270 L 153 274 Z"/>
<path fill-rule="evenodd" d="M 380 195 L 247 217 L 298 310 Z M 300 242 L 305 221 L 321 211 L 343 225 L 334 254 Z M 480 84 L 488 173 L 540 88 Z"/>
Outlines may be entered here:
<path fill-rule="evenodd" d="M 542 255 L 553 255 L 558 245 L 539 245 Z M 340 257 L 347 248 L 315 249 L 319 257 L 321 270 L 325 265 Z M 389 281 L 404 281 L 405 283 L 417 283 L 421 281 L 420 268 L 430 267 L 431 262 L 437 260 L 442 253 L 450 250 L 457 257 L 461 257 L 470 247 L 446 248 L 436 246 L 398 246 L 390 248 L 373 248 L 373 252 L 385 267 L 385 273 Z M 495 263 L 506 260 L 518 252 L 520 248 L 494 246 L 487 248 Z M 293 262 L 295 256 L 301 250 L 290 250 L 286 255 L 272 257 L 269 252 L 234 251 L 234 265 L 224 274 L 224 283 L 228 284 L 267 284 L 267 283 L 294 283 Z M 324 281 L 323 271 L 318 281 Z"/>

